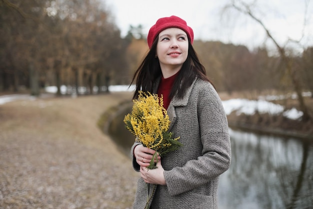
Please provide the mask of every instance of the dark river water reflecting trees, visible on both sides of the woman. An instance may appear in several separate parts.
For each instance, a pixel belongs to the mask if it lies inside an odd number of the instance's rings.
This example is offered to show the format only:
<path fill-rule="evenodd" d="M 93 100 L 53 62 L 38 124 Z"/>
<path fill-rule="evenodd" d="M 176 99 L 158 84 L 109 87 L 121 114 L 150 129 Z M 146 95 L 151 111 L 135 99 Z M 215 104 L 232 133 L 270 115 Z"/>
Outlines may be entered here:
<path fill-rule="evenodd" d="M 109 134 L 130 157 L 133 136 L 115 117 Z M 231 164 L 221 174 L 219 209 L 311 209 L 313 208 L 313 143 L 229 129 Z"/>

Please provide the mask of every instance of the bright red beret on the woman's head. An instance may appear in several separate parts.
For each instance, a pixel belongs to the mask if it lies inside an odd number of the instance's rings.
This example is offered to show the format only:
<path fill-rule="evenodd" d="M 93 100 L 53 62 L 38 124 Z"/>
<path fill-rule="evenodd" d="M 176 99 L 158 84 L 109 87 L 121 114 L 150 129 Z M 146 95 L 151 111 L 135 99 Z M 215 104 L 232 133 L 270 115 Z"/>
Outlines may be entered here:
<path fill-rule="evenodd" d="M 158 19 L 156 21 L 155 25 L 153 25 L 150 28 L 149 33 L 148 33 L 148 37 L 147 37 L 149 49 L 151 48 L 152 43 L 153 43 L 154 39 L 156 38 L 156 36 L 158 36 L 158 34 L 161 31 L 164 31 L 165 29 L 168 29 L 168 28 L 179 28 L 179 29 L 183 30 L 187 34 L 187 37 L 192 44 L 192 42 L 193 42 L 193 31 L 192 31 L 192 29 L 189 26 L 187 26 L 187 23 L 184 20 L 182 20 L 181 18 L 178 18 L 176 16 L 170 16 L 170 17 Z"/>

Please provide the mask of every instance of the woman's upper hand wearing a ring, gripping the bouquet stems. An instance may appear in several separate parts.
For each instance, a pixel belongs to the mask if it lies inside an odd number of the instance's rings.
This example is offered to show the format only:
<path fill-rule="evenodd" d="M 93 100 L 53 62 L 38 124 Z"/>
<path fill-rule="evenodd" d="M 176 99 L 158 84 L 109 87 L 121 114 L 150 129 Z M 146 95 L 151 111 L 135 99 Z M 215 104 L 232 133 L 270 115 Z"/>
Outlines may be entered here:
<path fill-rule="evenodd" d="M 133 150 L 136 162 L 143 167 L 147 167 L 150 164 L 154 153 L 155 151 L 153 149 L 144 147 L 142 144 L 137 145 Z M 160 160 L 159 155 L 157 156 L 157 159 Z"/>

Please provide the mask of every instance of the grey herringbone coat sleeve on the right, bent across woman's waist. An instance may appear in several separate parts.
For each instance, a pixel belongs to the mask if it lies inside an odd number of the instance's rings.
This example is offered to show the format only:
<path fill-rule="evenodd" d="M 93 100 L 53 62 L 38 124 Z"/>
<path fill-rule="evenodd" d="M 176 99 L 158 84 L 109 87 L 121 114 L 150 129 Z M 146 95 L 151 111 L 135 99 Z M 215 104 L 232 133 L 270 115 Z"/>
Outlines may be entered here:
<path fill-rule="evenodd" d="M 212 88 L 209 91 L 200 90 L 197 100 L 201 154 L 181 167 L 164 171 L 170 195 L 203 186 L 226 171 L 230 165 L 228 124 L 217 93 Z"/>

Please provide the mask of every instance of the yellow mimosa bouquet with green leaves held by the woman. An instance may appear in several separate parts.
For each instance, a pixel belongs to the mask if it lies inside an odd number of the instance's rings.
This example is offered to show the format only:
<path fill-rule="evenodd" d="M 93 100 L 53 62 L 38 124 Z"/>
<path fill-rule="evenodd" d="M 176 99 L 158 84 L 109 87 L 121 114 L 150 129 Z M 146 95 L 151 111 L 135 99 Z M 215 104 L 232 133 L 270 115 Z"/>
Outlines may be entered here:
<path fill-rule="evenodd" d="M 133 100 L 132 111 L 124 117 L 126 128 L 143 146 L 155 150 L 148 169 L 157 168 L 157 154 L 163 156 L 177 150 L 182 144 L 177 138 L 172 138 L 168 132 L 169 118 L 163 108 L 163 97 L 157 94 L 139 92 L 137 100 Z"/>

